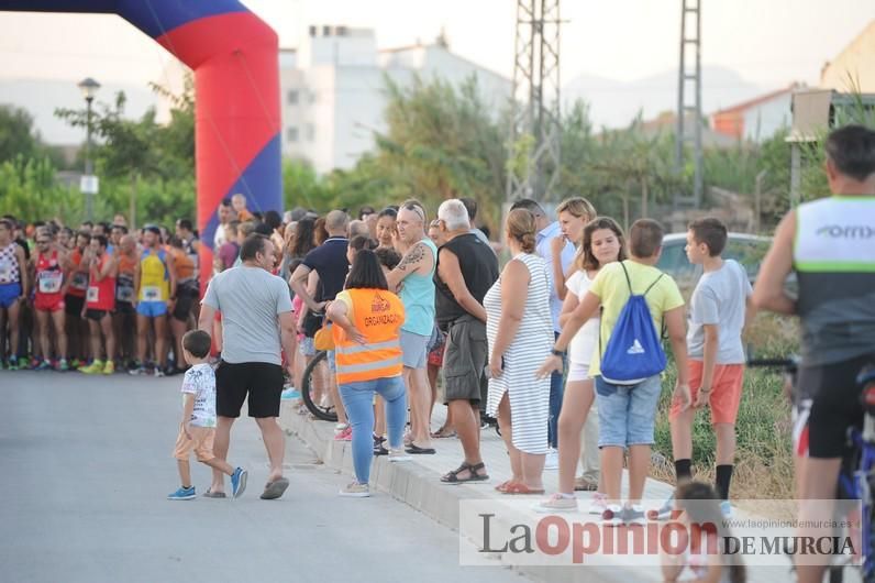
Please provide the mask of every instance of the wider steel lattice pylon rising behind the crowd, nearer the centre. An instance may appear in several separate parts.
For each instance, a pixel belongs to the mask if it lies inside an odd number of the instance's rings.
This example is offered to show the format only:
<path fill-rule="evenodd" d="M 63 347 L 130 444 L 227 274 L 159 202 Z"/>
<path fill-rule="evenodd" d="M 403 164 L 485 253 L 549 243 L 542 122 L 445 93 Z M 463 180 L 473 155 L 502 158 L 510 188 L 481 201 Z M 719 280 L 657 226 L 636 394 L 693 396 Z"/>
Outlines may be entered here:
<path fill-rule="evenodd" d="M 507 200 L 551 198 L 560 173 L 560 0 L 517 0 Z M 524 147 L 520 167 L 518 147 Z"/>

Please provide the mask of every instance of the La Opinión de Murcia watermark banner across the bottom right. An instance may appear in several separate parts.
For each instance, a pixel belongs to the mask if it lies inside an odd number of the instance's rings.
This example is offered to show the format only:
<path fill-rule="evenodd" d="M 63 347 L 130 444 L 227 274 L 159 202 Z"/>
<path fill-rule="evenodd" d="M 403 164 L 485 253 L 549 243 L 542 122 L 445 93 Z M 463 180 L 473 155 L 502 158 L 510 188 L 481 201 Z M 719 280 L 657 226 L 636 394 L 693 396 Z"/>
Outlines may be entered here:
<path fill-rule="evenodd" d="M 690 501 L 662 519 L 612 525 L 580 512 L 538 513 L 531 502 L 462 501 L 459 560 L 464 565 L 500 561 L 514 566 L 787 566 L 790 561 L 820 564 L 839 558 L 859 563 L 859 501 L 806 504 L 806 514 L 813 517 L 809 520 L 764 517 L 779 507 L 798 508 L 795 501 L 742 501 L 744 509 L 730 518 L 720 514 L 716 501 Z M 662 505 L 642 503 L 645 509 Z"/>

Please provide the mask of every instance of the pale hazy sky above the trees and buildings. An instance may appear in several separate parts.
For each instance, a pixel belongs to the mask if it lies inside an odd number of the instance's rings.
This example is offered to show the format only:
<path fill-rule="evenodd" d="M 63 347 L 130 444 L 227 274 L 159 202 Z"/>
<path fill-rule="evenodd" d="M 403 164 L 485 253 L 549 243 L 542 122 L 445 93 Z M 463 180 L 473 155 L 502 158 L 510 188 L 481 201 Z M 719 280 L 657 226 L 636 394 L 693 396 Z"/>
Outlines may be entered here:
<path fill-rule="evenodd" d="M 153 0 L 156 1 L 156 0 Z M 374 28 L 380 47 L 432 41 L 510 76 L 513 0 L 248 0 L 295 47 L 310 24 Z M 564 0 L 563 84 L 630 81 L 677 67 L 682 0 Z M 872 0 L 702 0 L 702 63 L 765 90 L 816 85 L 823 63 L 875 19 Z M 114 15 L 0 12 L 0 78 L 160 82 L 171 57 Z M 704 79 L 707 84 L 707 78 Z M 1 98 L 2 96 L 0 96 Z"/>

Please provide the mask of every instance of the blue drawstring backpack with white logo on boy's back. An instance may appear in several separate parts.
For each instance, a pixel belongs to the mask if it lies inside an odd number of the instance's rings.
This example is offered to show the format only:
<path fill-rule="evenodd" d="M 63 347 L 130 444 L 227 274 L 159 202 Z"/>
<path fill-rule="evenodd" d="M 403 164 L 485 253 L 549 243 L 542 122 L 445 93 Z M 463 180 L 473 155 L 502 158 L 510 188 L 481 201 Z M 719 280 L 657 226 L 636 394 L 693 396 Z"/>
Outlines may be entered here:
<path fill-rule="evenodd" d="M 614 385 L 634 385 L 665 370 L 666 359 L 660 337 L 653 326 L 644 296 L 653 289 L 664 274 L 641 295 L 632 292 L 632 280 L 623 262 L 620 266 L 629 286 L 629 300 L 620 311 L 608 345 L 601 355 L 601 377 Z M 599 348 L 601 334 L 599 334 Z"/>

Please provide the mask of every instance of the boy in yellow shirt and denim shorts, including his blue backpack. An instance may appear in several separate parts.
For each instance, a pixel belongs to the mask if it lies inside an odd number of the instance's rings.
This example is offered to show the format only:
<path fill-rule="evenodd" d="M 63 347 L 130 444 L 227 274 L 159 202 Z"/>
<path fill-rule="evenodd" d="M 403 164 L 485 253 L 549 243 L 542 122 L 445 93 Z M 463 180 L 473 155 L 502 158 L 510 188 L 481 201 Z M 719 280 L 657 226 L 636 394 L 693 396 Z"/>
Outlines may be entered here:
<path fill-rule="evenodd" d="M 666 359 L 661 345 L 665 330 L 677 365 L 674 400 L 689 406 L 684 298 L 672 277 L 655 267 L 662 252 L 663 229 L 641 219 L 629 231 L 629 256 L 606 265 L 578 304 L 556 340 L 553 355 L 539 375 L 562 366 L 562 355 L 580 327 L 601 306 L 599 346 L 589 374 L 598 394 L 601 472 L 608 495 L 606 525 L 643 525 L 641 507 L 650 470 L 656 405 L 662 392 L 661 373 Z M 621 505 L 623 454 L 629 451 L 629 499 Z"/>

